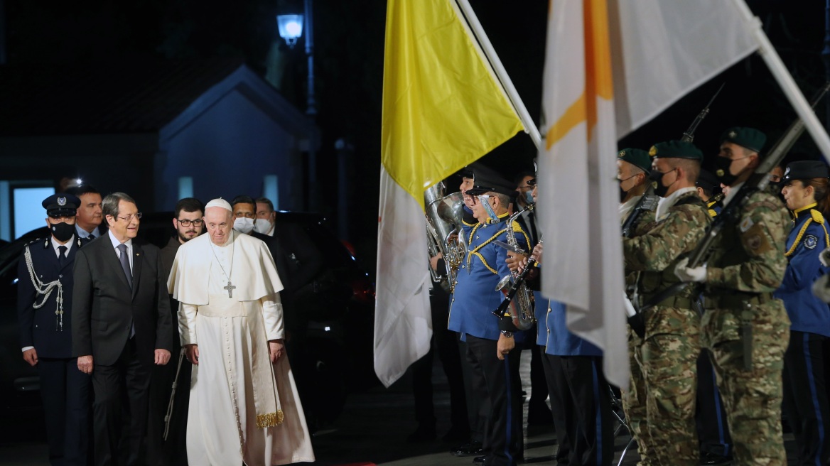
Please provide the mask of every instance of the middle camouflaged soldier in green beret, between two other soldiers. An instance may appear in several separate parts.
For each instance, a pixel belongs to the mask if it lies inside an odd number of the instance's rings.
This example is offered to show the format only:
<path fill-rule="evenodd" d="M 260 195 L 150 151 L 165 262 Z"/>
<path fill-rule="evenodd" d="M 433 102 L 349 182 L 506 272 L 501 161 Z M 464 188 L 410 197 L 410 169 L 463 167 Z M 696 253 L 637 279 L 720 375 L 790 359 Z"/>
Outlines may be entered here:
<path fill-rule="evenodd" d="M 648 464 L 697 466 L 700 315 L 693 308 L 692 286 L 676 295 L 662 292 L 678 282 L 675 265 L 700 242 L 711 221 L 695 189 L 703 154 L 681 141 L 655 144 L 649 154 L 655 192 L 663 199 L 647 231 L 623 240 L 626 269 L 640 272 L 635 304 L 643 307 L 646 332 L 637 366 L 646 390 Z"/>

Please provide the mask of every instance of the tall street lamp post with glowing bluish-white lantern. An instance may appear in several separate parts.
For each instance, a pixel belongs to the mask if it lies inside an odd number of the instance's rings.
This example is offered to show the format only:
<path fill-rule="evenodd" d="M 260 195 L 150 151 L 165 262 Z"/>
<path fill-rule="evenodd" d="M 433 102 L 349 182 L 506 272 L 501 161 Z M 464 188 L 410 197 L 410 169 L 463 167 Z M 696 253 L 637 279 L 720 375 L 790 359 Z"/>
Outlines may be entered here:
<path fill-rule="evenodd" d="M 290 47 L 294 47 L 297 39 L 302 36 L 303 20 L 305 19 L 305 56 L 308 59 L 308 89 L 305 96 L 305 115 L 309 119 L 309 176 L 306 180 L 307 197 L 306 208 L 314 211 L 317 208 L 316 196 L 314 191 L 315 182 L 317 180 L 317 155 L 315 151 L 315 116 L 317 114 L 317 102 L 314 95 L 314 23 L 311 15 L 311 1 L 305 0 L 304 15 L 279 15 L 276 17 L 277 27 L 280 30 L 280 36 L 286 41 Z"/>

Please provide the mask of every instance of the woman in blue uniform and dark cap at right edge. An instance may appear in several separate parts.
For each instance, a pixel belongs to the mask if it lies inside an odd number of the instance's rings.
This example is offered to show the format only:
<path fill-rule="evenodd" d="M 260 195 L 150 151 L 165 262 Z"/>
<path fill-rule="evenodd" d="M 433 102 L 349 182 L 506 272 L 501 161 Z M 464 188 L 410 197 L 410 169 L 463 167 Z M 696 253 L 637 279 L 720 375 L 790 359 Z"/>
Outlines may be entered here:
<path fill-rule="evenodd" d="M 830 211 L 830 171 L 818 161 L 790 163 L 781 192 L 793 212 L 787 238 L 787 271 L 775 297 L 792 322 L 784 353 L 784 413 L 793 427 L 798 464 L 830 461 L 830 409 L 823 345 L 830 337 L 828 305 L 813 294 L 813 282 L 830 272 L 819 255 L 830 245 L 825 215 Z"/>

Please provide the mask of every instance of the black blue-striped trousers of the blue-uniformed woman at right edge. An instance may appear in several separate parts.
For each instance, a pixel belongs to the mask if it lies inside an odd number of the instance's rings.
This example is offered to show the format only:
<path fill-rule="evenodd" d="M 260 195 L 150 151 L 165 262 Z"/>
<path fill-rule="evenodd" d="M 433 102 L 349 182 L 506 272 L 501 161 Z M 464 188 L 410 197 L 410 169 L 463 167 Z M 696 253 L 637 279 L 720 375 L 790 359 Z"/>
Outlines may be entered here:
<path fill-rule="evenodd" d="M 830 410 L 824 374 L 826 337 L 791 330 L 784 353 L 784 412 L 793 428 L 796 464 L 828 464 Z"/>

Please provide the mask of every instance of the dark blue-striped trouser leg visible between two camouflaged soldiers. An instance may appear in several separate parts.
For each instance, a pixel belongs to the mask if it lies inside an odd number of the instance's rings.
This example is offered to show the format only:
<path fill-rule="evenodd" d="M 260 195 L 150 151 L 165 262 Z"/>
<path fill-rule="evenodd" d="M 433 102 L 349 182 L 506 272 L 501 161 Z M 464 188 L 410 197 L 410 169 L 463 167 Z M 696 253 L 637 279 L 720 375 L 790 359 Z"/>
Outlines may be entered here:
<path fill-rule="evenodd" d="M 709 350 L 705 348 L 697 357 L 695 423 L 701 454 L 727 456 L 732 453 L 732 437 L 726 423 L 726 410 L 715 383 L 715 368 L 712 367 Z"/>

